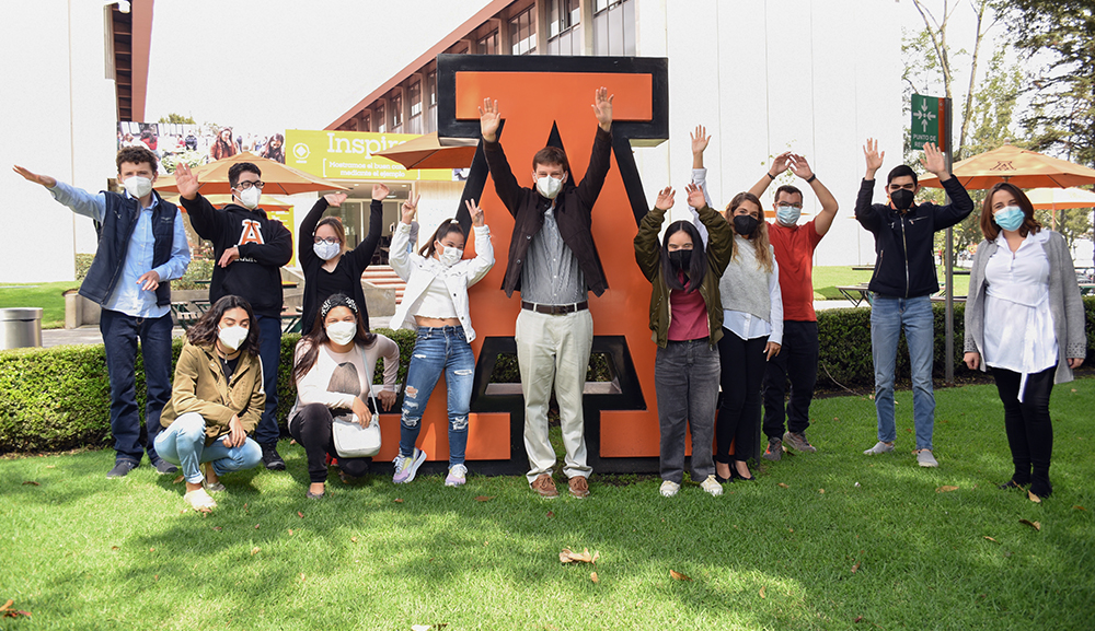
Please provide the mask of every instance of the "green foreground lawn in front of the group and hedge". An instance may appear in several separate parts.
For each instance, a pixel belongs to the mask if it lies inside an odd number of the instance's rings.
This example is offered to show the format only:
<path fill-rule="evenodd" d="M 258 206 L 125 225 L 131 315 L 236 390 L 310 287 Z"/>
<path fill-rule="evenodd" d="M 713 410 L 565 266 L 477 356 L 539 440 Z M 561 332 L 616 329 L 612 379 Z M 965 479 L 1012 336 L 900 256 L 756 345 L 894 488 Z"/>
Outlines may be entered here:
<path fill-rule="evenodd" d="M 226 476 L 204 517 L 147 463 L 106 480 L 108 451 L 3 459 L 0 600 L 33 618 L 0 628 L 1092 629 L 1095 379 L 1053 396 L 1042 504 L 996 489 L 1011 460 L 991 385 L 937 392 L 938 469 L 910 454 L 910 393 L 898 451 L 877 457 L 861 455 L 873 402 L 834 397 L 812 408 L 819 453 L 721 498 L 595 474 L 587 500 L 541 500 L 472 464 L 462 489 L 332 476 L 316 502 L 283 443 L 288 472 Z M 563 565 L 564 547 L 600 559 Z"/>

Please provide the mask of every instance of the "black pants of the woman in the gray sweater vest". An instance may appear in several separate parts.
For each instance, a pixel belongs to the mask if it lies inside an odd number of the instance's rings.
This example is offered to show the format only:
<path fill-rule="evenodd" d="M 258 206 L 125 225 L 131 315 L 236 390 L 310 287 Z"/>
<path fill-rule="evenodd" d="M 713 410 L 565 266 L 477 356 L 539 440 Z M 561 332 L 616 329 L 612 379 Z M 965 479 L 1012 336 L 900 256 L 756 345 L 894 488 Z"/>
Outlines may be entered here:
<path fill-rule="evenodd" d="M 744 340 L 723 327 L 723 338 L 718 340 L 723 405 L 715 421 L 716 463 L 730 461 L 730 441 L 734 441 L 735 460 L 748 460 L 757 454 L 760 384 L 764 379 L 766 344 L 768 336 Z"/>

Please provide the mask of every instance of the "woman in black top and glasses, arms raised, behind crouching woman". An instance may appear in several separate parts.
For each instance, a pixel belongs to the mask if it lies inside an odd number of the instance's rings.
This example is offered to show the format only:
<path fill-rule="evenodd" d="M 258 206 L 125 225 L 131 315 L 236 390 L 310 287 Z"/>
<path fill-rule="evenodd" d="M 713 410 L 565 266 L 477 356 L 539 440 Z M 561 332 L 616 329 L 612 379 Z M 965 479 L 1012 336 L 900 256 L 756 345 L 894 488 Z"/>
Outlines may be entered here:
<path fill-rule="evenodd" d="M 345 192 L 324 195 L 301 220 L 297 232 L 297 262 L 304 272 L 300 330 L 312 330 L 316 309 L 327 296 L 336 293 L 354 299 L 361 311 L 365 328 L 369 328 L 361 272 L 372 262 L 372 256 L 380 244 L 384 221 L 383 201 L 389 192 L 383 184 L 372 185 L 369 234 L 354 249 L 346 248 L 346 231 L 342 221 L 337 217 L 323 217 L 327 208 L 342 206 L 346 200 Z"/>

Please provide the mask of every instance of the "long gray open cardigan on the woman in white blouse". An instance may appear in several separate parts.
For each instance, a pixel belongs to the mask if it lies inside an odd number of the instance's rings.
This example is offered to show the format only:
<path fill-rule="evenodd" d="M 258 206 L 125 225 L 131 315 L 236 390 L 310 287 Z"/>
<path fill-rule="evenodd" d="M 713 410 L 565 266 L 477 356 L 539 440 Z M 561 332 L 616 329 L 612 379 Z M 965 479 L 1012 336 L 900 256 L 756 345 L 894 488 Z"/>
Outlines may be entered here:
<path fill-rule="evenodd" d="M 966 352 L 982 355 L 984 365 L 984 267 L 999 246 L 994 241 L 982 241 L 973 255 L 973 269 L 969 277 L 969 297 L 966 301 Z M 1049 311 L 1053 316 L 1053 334 L 1057 336 L 1058 361 L 1053 383 L 1072 381 L 1072 369 L 1068 358 L 1083 358 L 1087 354 L 1087 338 L 1084 336 L 1084 304 L 1080 300 L 1076 270 L 1064 237 L 1049 231 L 1049 239 L 1042 244 L 1049 258 Z"/>

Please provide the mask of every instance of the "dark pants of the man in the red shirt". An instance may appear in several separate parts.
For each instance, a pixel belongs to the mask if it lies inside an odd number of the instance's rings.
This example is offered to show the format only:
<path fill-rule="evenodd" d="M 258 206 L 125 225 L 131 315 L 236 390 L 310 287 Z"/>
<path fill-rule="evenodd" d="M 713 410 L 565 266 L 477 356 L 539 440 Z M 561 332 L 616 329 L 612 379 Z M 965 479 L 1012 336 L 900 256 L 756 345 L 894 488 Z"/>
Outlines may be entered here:
<path fill-rule="evenodd" d="M 784 407 L 784 393 L 791 379 L 791 400 Z M 800 434 L 810 426 L 810 401 L 818 381 L 818 323 L 783 320 L 783 347 L 768 362 L 764 373 L 764 435 L 783 437 L 787 430 Z"/>

